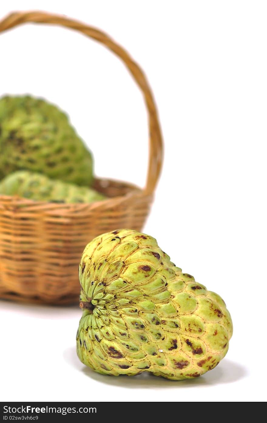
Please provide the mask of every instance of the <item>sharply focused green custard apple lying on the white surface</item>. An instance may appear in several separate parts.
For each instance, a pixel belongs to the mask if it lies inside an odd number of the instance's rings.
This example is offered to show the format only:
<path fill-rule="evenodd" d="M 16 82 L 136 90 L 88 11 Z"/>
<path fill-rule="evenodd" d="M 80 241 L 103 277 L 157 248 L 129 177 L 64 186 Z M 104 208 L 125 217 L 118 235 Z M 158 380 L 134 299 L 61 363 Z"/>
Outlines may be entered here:
<path fill-rule="evenodd" d="M 95 371 L 191 379 L 226 355 L 232 322 L 225 302 L 151 236 L 127 229 L 98 236 L 79 272 L 77 354 Z"/>

